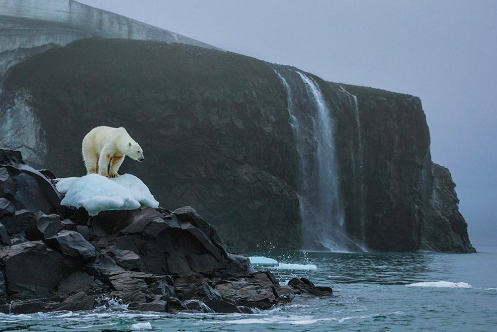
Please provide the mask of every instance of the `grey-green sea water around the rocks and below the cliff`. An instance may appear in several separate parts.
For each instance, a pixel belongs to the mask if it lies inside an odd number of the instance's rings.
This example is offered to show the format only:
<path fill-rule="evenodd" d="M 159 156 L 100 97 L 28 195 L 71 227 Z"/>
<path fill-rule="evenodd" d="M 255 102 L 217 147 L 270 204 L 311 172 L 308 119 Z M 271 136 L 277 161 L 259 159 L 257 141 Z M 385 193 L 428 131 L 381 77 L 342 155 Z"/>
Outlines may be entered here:
<path fill-rule="evenodd" d="M 315 270 L 274 272 L 280 282 L 306 276 L 333 287 L 334 296 L 300 297 L 252 315 L 118 308 L 0 315 L 0 331 L 497 331 L 497 247 L 477 250 L 266 254 L 279 262 L 316 265 Z M 422 284 L 412 285 L 417 283 Z"/>

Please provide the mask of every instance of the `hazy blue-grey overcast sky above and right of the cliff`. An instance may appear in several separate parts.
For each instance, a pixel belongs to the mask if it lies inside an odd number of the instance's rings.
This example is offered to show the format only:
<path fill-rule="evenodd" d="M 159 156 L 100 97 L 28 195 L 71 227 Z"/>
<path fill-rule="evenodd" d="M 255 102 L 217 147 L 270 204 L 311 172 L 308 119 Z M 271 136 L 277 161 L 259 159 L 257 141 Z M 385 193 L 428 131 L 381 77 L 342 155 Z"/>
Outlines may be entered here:
<path fill-rule="evenodd" d="M 80 0 L 332 82 L 421 98 L 473 244 L 497 244 L 497 1 Z"/>

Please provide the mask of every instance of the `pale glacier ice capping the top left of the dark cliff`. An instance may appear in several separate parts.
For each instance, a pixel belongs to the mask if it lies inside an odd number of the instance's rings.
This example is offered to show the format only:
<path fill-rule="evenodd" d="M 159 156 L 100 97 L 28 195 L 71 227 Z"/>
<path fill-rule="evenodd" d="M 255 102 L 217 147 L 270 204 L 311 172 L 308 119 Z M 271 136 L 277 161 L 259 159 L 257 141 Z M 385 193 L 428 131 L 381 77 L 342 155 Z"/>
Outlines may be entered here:
<path fill-rule="evenodd" d="M 215 48 L 73 0 L 2 0 L 0 76 L 26 56 L 88 37 L 157 40 Z"/>

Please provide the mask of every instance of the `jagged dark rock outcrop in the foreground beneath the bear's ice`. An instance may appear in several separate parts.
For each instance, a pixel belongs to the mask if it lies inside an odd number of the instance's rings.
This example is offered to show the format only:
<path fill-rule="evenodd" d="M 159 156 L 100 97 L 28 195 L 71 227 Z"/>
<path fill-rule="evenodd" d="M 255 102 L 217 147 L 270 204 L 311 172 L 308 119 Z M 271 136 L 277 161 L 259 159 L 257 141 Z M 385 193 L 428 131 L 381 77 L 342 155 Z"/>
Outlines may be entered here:
<path fill-rule="evenodd" d="M 89 310 L 118 301 L 131 310 L 251 313 L 319 288 L 280 287 L 270 272 L 254 273 L 248 257 L 229 253 L 189 206 L 105 211 L 83 222 L 85 215 L 61 206 L 50 179 L 17 151 L 0 149 L 0 168 L 4 182 L 12 181 L 0 191 L 0 312 Z M 16 219 L 25 199 L 49 208 Z M 45 214 L 53 210 L 60 214 Z"/>

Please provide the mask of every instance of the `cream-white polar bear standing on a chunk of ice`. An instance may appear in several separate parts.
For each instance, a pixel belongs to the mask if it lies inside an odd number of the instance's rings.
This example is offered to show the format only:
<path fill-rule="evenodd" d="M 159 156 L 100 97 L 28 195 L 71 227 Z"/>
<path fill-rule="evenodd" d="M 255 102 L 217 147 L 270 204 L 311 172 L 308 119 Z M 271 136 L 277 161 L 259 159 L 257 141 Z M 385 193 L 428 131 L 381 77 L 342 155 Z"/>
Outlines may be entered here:
<path fill-rule="evenodd" d="M 116 178 L 124 156 L 144 161 L 143 150 L 123 127 L 95 127 L 83 138 L 83 160 L 87 174 Z M 110 169 L 107 169 L 109 167 Z"/>

